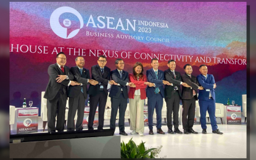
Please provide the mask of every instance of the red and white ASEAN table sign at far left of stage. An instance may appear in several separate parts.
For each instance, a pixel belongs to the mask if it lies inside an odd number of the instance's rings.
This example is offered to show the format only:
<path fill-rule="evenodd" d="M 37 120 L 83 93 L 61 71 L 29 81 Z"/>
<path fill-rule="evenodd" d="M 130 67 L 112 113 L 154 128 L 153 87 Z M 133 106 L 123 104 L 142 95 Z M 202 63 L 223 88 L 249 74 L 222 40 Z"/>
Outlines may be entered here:
<path fill-rule="evenodd" d="M 13 131 L 15 134 L 38 132 L 38 108 L 16 108 Z"/>

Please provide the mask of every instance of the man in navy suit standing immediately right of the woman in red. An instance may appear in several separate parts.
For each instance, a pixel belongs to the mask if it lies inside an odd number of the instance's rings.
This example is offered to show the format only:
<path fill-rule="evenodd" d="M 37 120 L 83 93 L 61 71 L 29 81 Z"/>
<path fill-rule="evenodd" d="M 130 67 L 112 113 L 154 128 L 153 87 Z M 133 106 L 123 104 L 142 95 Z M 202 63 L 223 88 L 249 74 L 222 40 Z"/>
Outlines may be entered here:
<path fill-rule="evenodd" d="M 163 84 L 170 85 L 169 82 L 163 80 L 163 71 L 159 70 L 159 63 L 157 58 L 151 60 L 152 68 L 146 71 L 147 81 L 154 84 L 154 86 L 148 86 L 146 90 L 147 94 L 147 113 L 149 121 L 149 135 L 154 135 L 153 132 L 153 113 L 157 114 L 157 133 L 165 134 L 162 127 L 162 108 L 163 108 L 163 97 L 165 93 L 163 91 Z"/>

